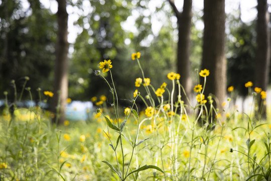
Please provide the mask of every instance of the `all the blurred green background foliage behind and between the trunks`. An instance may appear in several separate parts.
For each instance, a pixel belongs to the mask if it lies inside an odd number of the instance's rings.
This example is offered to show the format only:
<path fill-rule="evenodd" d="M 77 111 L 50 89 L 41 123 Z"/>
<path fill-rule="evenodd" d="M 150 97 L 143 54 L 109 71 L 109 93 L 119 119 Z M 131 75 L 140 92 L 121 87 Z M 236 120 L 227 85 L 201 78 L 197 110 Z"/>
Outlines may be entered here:
<path fill-rule="evenodd" d="M 153 86 L 158 88 L 164 81 L 169 82 L 167 73 L 176 71 L 178 29 L 168 2 L 161 2 L 155 11 L 150 11 L 151 1 L 68 1 L 73 13 L 79 15 L 74 23 L 78 35 L 69 48 L 69 97 L 72 100 L 89 101 L 94 96 L 110 95 L 106 83 L 93 73 L 104 59 L 112 60 L 111 71 L 119 98 L 131 100 L 136 88 L 134 80 L 142 76 L 137 62 L 131 60 L 131 53 L 138 51 L 142 54 L 140 61 L 145 75 L 151 78 Z M 86 4 L 88 13 L 84 13 Z M 159 20 L 161 29 L 156 32 L 152 17 L 158 14 L 163 15 L 163 19 Z M 202 23 L 202 14 L 202 10 L 193 10 L 192 72 L 200 67 L 203 29 L 196 25 Z M 136 17 L 132 31 L 123 28 L 131 17 Z M 228 14 L 226 22 L 227 84 L 233 85 L 240 95 L 246 95 L 243 84 L 253 81 L 255 21 L 242 22 L 237 11 Z M 12 79 L 20 92 L 25 76 L 30 77 L 27 86 L 33 90 L 38 87 L 52 90 L 56 30 L 56 15 L 40 1 L 0 0 L 0 93 L 13 92 Z M 196 84 L 196 73 L 191 75 Z M 139 91 L 144 92 L 142 87 Z M 34 99 L 38 99 L 37 93 L 32 92 Z"/>

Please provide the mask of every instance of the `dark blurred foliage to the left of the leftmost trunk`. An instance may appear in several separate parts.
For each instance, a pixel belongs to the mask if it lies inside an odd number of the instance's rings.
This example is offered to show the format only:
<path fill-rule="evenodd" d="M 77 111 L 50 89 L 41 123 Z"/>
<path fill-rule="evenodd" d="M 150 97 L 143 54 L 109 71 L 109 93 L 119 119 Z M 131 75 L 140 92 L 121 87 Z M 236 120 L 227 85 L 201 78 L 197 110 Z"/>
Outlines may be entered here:
<path fill-rule="evenodd" d="M 52 89 L 56 18 L 39 1 L 28 2 L 27 9 L 21 1 L 0 4 L 0 92 L 13 89 L 12 79 L 21 92 L 29 76 L 27 86 L 38 98 L 38 87 Z"/>

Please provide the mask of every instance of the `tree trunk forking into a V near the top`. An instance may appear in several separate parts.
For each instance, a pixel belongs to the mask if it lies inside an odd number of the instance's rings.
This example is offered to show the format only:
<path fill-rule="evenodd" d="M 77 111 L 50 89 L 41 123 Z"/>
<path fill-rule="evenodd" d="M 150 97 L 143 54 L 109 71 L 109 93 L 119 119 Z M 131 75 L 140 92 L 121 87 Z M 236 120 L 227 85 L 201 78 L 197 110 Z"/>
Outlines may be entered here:
<path fill-rule="evenodd" d="M 191 99 L 192 79 L 190 76 L 191 62 L 190 55 L 190 32 L 192 18 L 192 0 L 185 0 L 183 12 L 179 12 L 175 4 L 169 0 L 178 23 L 178 47 L 177 47 L 177 72 L 181 75 L 180 83 L 184 86 L 188 99 Z M 182 100 L 187 104 L 187 99 L 182 93 Z"/>

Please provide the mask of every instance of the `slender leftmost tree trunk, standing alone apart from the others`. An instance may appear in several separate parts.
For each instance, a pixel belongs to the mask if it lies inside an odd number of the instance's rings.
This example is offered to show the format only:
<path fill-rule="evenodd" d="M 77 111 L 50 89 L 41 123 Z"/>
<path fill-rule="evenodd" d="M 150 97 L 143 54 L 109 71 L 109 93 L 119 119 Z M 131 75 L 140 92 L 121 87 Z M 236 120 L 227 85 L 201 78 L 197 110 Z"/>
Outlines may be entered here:
<path fill-rule="evenodd" d="M 65 121 L 65 106 L 68 98 L 68 13 L 66 11 L 66 0 L 57 0 L 57 2 L 58 34 L 52 109 L 55 113 L 53 121 L 62 124 Z"/>

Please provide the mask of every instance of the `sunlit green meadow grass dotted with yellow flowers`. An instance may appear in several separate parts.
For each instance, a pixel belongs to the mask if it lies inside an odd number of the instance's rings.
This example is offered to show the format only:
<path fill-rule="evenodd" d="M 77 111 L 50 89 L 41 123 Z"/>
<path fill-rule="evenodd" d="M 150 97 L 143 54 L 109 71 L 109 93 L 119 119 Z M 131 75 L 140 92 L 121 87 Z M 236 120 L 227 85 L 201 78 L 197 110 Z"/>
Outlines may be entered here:
<path fill-rule="evenodd" d="M 139 54 L 133 58 L 141 68 Z M 109 78 L 96 74 L 114 101 L 107 107 L 106 98 L 96 100 L 99 109 L 88 121 L 56 126 L 39 106 L 11 114 L 7 104 L 0 117 L 0 180 L 270 180 L 270 108 L 267 121 L 254 110 L 239 113 L 230 99 L 223 111 L 207 109 L 213 98 L 203 96 L 205 83 L 197 85 L 190 108 L 181 100 L 178 74 L 168 75 L 172 90 L 165 83 L 155 89 L 143 71 L 135 84 L 146 93 L 135 91 L 131 105 L 120 107 L 108 63 L 100 68 L 108 67 Z M 200 75 L 208 81 L 207 70 Z"/>

